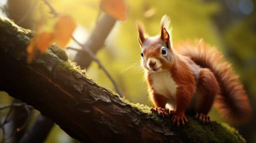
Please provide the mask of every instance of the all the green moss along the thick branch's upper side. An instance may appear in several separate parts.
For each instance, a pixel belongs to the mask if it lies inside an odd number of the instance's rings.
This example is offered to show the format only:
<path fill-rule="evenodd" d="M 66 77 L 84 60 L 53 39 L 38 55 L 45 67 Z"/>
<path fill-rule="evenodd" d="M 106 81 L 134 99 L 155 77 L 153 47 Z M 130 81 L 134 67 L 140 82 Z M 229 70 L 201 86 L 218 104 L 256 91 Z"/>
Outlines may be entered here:
<path fill-rule="evenodd" d="M 11 20 L 7 18 L 0 18 L 0 32 L 2 32 L 1 30 L 5 30 L 3 32 L 5 32 L 8 35 L 15 35 L 17 37 L 16 39 L 14 39 L 14 41 L 9 43 L 10 47 L 15 47 L 11 45 L 13 43 L 20 43 L 20 45 L 23 45 L 23 47 L 21 46 L 21 50 L 23 51 L 25 50 L 26 45 L 30 42 L 30 38 L 34 34 L 30 30 L 26 30 L 16 26 Z M 6 39 L 2 38 L 0 40 Z M 67 53 L 64 50 L 58 48 L 56 44 L 54 44 L 49 50 L 45 52 L 45 54 L 41 56 L 44 58 L 41 59 L 40 56 L 37 56 L 37 58 L 35 58 L 35 61 L 38 63 L 47 64 L 48 69 L 52 68 L 51 66 L 49 66 L 49 63 L 57 62 L 57 66 L 55 67 L 56 69 L 71 73 L 81 73 L 85 75 L 87 78 L 91 79 L 91 77 L 88 76 L 85 70 L 81 70 L 80 67 L 76 65 L 76 63 L 69 61 Z M 48 61 L 48 63 L 46 63 L 47 59 L 49 59 L 50 62 Z M 53 64 L 53 66 L 55 66 L 55 64 Z M 99 86 L 101 90 L 107 91 L 113 96 L 120 97 L 111 89 L 105 89 L 97 82 L 95 83 Z M 202 125 L 198 122 L 198 120 L 195 120 L 192 116 L 186 115 L 187 119 L 189 120 L 189 123 L 185 127 L 177 128 L 171 124 L 171 120 L 169 118 L 160 118 L 156 112 L 152 113 L 150 111 L 150 107 L 139 103 L 131 103 L 129 102 L 129 100 L 125 98 L 120 99 L 124 103 L 130 105 L 133 110 L 140 111 L 142 113 L 147 113 L 156 123 L 170 125 L 170 127 L 173 128 L 174 132 L 184 137 L 184 139 L 187 141 L 205 143 L 245 142 L 245 139 L 241 135 L 239 135 L 238 131 L 230 127 L 226 123 L 217 123 L 213 121 L 212 125 Z"/>

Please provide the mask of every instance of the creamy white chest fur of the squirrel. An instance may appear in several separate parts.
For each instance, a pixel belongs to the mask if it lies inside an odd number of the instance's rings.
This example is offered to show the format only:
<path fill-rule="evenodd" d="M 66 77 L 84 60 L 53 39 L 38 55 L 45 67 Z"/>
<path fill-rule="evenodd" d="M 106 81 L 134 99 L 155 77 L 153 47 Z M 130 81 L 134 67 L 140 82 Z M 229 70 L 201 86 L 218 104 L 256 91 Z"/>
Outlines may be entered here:
<path fill-rule="evenodd" d="M 166 97 L 169 103 L 175 102 L 178 85 L 173 80 L 170 71 L 154 72 L 151 74 L 151 79 L 156 93 Z"/>

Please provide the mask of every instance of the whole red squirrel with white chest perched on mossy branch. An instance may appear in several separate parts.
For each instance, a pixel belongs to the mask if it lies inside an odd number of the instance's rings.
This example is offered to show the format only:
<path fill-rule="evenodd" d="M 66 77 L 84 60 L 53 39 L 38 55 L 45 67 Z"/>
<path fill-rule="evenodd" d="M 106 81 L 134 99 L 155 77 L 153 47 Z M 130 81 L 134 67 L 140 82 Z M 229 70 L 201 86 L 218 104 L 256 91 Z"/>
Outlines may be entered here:
<path fill-rule="evenodd" d="M 202 40 L 181 42 L 173 46 L 170 20 L 164 15 L 160 34 L 149 37 L 137 22 L 141 47 L 141 66 L 145 71 L 151 111 L 159 116 L 172 115 L 172 123 L 184 126 L 186 114 L 199 122 L 210 123 L 207 115 L 213 105 L 231 123 L 244 123 L 251 114 L 248 96 L 238 76 L 216 48 Z M 166 104 L 171 109 L 166 110 Z"/>

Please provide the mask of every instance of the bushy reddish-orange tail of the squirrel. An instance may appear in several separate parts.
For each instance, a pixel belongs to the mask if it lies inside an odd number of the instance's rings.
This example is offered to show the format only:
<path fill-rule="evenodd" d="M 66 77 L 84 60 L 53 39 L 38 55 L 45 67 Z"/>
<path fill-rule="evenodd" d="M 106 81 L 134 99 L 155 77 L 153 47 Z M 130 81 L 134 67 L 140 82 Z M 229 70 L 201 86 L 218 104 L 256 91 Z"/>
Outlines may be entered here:
<path fill-rule="evenodd" d="M 175 51 L 191 59 L 203 68 L 210 69 L 217 78 L 221 95 L 217 95 L 214 105 L 221 116 L 227 117 L 233 124 L 246 122 L 251 115 L 248 96 L 234 73 L 231 65 L 223 59 L 222 54 L 203 40 L 181 42 L 174 46 Z"/>

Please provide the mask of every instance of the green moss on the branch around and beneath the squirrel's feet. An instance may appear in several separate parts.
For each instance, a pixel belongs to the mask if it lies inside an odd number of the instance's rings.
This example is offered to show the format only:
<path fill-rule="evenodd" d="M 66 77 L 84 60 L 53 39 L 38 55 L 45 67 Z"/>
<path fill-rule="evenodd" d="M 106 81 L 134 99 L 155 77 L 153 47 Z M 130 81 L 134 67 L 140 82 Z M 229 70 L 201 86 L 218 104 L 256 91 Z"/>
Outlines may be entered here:
<path fill-rule="evenodd" d="M 148 113 L 149 116 L 159 124 L 170 125 L 172 126 L 174 132 L 184 137 L 185 140 L 195 143 L 224 143 L 224 142 L 232 142 L 232 143 L 244 143 L 245 139 L 239 135 L 238 131 L 230 127 L 226 123 L 217 123 L 216 121 L 212 121 L 212 124 L 203 125 L 198 122 L 198 120 L 194 119 L 190 115 L 186 115 L 189 123 L 185 127 L 177 128 L 175 125 L 172 125 L 172 122 L 169 118 L 161 118 L 158 116 L 156 112 L 151 112 L 150 107 L 139 104 L 139 103 L 131 103 L 129 100 L 125 99 L 125 97 L 121 98 L 123 102 L 131 107 L 134 110 L 141 111 L 143 113 Z"/>

